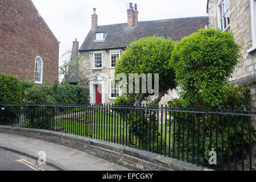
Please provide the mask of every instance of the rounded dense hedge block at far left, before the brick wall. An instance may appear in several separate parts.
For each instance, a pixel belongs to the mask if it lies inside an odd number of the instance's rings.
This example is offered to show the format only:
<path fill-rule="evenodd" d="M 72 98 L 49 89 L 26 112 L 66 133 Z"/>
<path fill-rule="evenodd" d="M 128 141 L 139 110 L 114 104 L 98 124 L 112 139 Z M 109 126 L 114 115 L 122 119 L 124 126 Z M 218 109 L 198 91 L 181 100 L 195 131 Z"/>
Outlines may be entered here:
<path fill-rule="evenodd" d="M 20 103 L 22 87 L 18 78 L 0 73 L 0 103 Z"/>

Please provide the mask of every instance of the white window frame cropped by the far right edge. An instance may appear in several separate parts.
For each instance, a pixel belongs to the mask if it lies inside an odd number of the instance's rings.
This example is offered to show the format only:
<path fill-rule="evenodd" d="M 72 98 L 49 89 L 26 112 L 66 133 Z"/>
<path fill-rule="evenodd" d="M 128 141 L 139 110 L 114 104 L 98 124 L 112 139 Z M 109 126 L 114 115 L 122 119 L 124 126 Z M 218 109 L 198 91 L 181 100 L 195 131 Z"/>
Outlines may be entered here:
<path fill-rule="evenodd" d="M 256 50 L 256 0 L 250 0 L 251 6 L 251 40 L 253 46 L 247 50 L 247 53 L 253 52 Z"/>

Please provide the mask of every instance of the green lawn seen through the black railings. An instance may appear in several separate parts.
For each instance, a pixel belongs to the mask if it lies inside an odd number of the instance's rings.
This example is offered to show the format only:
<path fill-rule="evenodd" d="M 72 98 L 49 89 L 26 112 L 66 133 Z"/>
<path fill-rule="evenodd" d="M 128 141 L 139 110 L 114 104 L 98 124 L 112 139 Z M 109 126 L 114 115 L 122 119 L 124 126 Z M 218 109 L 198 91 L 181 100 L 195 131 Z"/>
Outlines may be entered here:
<path fill-rule="evenodd" d="M 115 112 L 110 113 L 109 111 L 104 112 L 100 109 L 88 109 L 76 113 L 65 113 L 64 111 L 60 115 L 57 115 L 54 122 L 52 122 L 52 127 L 55 131 L 63 133 L 140 147 L 139 138 L 136 139 L 134 133 L 130 134 L 129 127 L 126 124 L 126 117 L 125 119 L 117 117 Z M 162 134 L 161 126 L 163 126 Z M 165 127 L 165 124 L 161 125 L 159 123 L 158 141 L 160 144 L 162 138 L 163 142 L 168 145 L 170 143 L 169 126 L 167 126 L 167 130 L 165 130 Z M 131 141 L 130 144 L 129 140 Z M 157 142 L 157 139 L 155 139 L 155 142 Z"/>

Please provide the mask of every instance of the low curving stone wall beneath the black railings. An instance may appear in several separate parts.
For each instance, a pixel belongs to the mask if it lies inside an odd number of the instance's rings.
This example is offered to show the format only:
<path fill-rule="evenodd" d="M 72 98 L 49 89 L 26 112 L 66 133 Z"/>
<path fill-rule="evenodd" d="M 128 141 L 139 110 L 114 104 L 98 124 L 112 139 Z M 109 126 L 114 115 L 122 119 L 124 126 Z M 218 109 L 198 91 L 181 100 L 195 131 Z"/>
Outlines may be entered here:
<path fill-rule="evenodd" d="M 152 152 L 137 150 L 119 144 L 104 142 L 76 135 L 46 130 L 0 126 L 0 133 L 31 137 L 65 147 L 76 148 L 124 167 L 139 171 L 204 171 L 203 167 L 167 158 Z"/>

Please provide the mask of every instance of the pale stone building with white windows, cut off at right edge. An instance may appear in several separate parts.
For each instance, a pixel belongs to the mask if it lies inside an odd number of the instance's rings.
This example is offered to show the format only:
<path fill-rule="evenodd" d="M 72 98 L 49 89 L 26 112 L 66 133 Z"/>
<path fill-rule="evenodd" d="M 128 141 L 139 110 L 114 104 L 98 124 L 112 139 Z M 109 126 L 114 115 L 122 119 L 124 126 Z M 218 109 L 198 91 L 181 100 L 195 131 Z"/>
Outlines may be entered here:
<path fill-rule="evenodd" d="M 253 109 L 256 108 L 256 1 L 208 0 L 209 27 L 232 31 L 241 48 L 240 64 L 230 78 L 231 84 L 248 86 Z M 255 123 L 254 123 L 255 124 Z M 256 126 L 256 125 L 255 125 Z"/>

